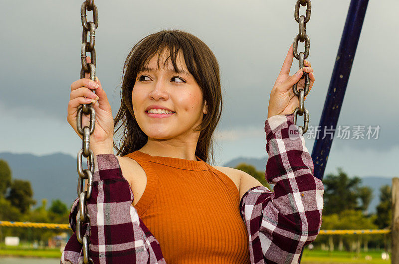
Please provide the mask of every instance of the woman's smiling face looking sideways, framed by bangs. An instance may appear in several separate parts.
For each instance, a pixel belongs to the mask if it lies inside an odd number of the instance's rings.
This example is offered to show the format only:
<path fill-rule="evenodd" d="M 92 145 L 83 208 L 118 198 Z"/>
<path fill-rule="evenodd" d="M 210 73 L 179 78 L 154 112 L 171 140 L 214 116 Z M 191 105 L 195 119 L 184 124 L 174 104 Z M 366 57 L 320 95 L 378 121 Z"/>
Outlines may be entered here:
<path fill-rule="evenodd" d="M 148 68 L 139 72 L 132 91 L 133 111 L 140 129 L 154 139 L 188 136 L 206 114 L 206 104 L 200 86 L 189 73 L 183 55 L 177 57 L 179 72 L 175 72 L 169 53 L 164 52 L 157 69 L 157 58 L 151 58 Z M 199 133 L 199 132 L 198 132 Z"/>

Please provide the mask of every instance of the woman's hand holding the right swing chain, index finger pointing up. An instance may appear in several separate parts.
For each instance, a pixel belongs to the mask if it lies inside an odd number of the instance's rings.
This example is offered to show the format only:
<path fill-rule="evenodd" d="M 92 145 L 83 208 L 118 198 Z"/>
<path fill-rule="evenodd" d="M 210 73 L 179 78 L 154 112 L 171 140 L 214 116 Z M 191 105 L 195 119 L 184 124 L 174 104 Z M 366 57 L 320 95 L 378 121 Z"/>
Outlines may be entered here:
<path fill-rule="evenodd" d="M 315 76 L 313 74 L 312 64 L 304 60 L 303 70 L 299 69 L 294 75 L 290 76 L 290 69 L 294 54 L 292 53 L 292 44 L 288 50 L 288 54 L 285 57 L 281 71 L 274 83 L 273 89 L 270 92 L 269 108 L 267 111 L 267 118 L 275 115 L 289 115 L 294 113 L 294 110 L 299 106 L 298 97 L 292 91 L 292 86 L 298 81 L 297 90 L 304 88 L 305 78 L 301 79 L 303 72 L 309 74 L 310 84 L 309 92 L 312 89 L 313 83 L 315 82 Z M 306 99 L 306 96 L 305 96 Z"/>

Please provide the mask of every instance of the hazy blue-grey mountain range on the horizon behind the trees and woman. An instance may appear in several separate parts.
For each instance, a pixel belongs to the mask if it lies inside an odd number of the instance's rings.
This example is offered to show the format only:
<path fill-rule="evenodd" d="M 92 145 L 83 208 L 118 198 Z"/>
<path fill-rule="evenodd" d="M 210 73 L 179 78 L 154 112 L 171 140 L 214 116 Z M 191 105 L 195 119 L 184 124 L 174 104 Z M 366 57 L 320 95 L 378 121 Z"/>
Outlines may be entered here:
<path fill-rule="evenodd" d="M 60 152 L 42 156 L 29 153 L 0 152 L 0 159 L 8 163 L 13 179 L 30 181 L 33 189 L 33 199 L 37 202 L 36 205 L 40 205 L 42 199 L 47 199 L 47 204 L 50 204 L 51 200 L 60 199 L 68 206 L 71 206 L 77 197 L 76 157 Z M 83 160 L 85 163 L 85 158 Z M 265 171 L 267 156 L 262 158 L 238 157 L 223 166 L 233 168 L 241 162 L 251 164 L 257 170 Z M 84 168 L 87 168 L 87 165 L 84 165 Z M 374 197 L 370 203 L 369 212 L 374 213 L 379 203 L 380 187 L 386 184 L 391 185 L 392 178 L 365 176 L 361 177 L 361 179 L 363 186 L 373 189 Z"/>

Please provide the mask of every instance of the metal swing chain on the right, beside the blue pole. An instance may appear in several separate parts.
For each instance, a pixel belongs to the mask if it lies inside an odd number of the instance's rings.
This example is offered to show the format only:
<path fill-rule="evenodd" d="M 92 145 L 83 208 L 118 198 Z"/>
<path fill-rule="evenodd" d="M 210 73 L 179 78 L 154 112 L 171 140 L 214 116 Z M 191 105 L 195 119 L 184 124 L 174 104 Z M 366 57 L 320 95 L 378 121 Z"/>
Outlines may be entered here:
<path fill-rule="evenodd" d="M 299 7 L 300 5 L 306 6 L 306 16 L 301 15 L 299 16 Z M 312 9 L 312 4 L 310 0 L 297 0 L 295 4 L 295 11 L 294 17 L 295 20 L 299 23 L 299 34 L 294 38 L 294 45 L 292 52 L 294 53 L 294 57 L 299 60 L 299 68 L 302 69 L 304 66 L 304 60 L 309 56 L 309 49 L 310 49 L 310 39 L 309 36 L 306 35 L 306 23 L 309 22 L 310 19 L 310 12 Z M 298 55 L 298 41 L 304 42 L 305 41 L 305 52 L 300 52 Z M 305 87 L 304 89 L 300 89 L 298 92 L 298 83 L 292 86 L 292 91 L 298 97 L 299 106 L 294 111 L 294 124 L 296 125 L 297 116 L 303 116 L 305 114 L 303 120 L 303 127 L 299 126 L 300 134 L 304 134 L 308 131 L 309 125 L 309 111 L 305 108 L 305 96 L 309 93 L 309 84 L 310 79 L 309 75 L 306 72 L 303 72 L 303 76 L 301 79 L 305 78 Z"/>

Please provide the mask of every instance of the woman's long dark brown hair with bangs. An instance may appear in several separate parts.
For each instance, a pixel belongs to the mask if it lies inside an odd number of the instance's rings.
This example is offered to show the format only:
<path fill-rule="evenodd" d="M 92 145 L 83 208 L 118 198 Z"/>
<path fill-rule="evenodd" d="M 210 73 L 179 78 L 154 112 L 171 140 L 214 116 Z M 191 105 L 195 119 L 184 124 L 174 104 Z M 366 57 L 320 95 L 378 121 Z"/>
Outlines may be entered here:
<path fill-rule="evenodd" d="M 183 53 L 189 72 L 201 88 L 203 102 L 206 101 L 207 105 L 207 113 L 204 114 L 200 126 L 195 128 L 195 131 L 200 131 L 196 155 L 205 162 L 214 162 L 213 132 L 220 120 L 222 110 L 219 65 L 214 54 L 204 42 L 198 37 L 180 30 L 163 30 L 146 36 L 134 45 L 126 58 L 122 75 L 122 102 L 114 120 L 115 133 L 123 127 L 122 137 L 119 140 L 120 147 L 114 142 L 114 147 L 118 151 L 117 155 L 134 152 L 147 143 L 148 136 L 140 129 L 134 117 L 132 90 L 137 74 L 157 54 L 158 67 L 160 67 L 160 57 L 164 50 L 169 51 L 170 54 L 165 60 L 164 66 L 170 59 L 176 71 L 178 70 L 177 56 L 179 51 Z"/>

